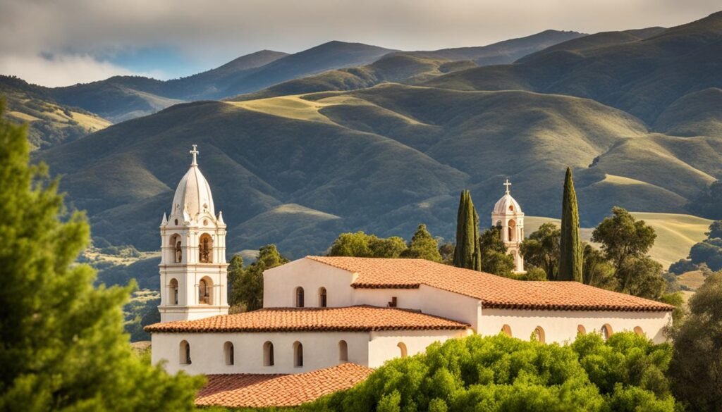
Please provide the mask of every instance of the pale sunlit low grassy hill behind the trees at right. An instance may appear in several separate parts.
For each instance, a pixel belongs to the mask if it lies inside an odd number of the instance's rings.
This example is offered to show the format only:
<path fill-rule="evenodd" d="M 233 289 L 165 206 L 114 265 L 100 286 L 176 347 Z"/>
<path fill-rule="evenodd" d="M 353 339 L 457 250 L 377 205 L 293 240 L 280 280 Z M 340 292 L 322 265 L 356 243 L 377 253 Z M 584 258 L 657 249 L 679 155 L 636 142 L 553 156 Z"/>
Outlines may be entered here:
<path fill-rule="evenodd" d="M 654 228 L 657 238 L 649 254 L 654 260 L 662 263 L 665 268 L 669 268 L 671 263 L 679 259 L 686 258 L 690 253 L 690 247 L 705 239 L 705 232 L 712 223 L 709 219 L 688 214 L 632 212 L 632 216 L 645 221 Z M 531 232 L 547 222 L 560 224 L 559 219 L 526 216 L 524 232 L 527 236 L 531 235 Z M 581 229 L 582 239 L 589 242 L 592 231 L 593 228 Z"/>

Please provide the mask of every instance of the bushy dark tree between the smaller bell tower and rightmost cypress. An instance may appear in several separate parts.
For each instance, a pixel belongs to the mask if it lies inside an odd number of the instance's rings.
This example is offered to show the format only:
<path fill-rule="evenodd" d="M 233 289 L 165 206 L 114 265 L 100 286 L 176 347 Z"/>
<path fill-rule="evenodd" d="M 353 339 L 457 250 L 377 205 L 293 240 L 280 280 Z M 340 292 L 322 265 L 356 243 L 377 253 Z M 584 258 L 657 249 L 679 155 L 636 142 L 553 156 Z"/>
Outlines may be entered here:
<path fill-rule="evenodd" d="M 544 223 L 521 242 L 525 263 L 544 269 L 550 281 L 558 277 L 561 237 L 562 231 L 556 224 Z"/>

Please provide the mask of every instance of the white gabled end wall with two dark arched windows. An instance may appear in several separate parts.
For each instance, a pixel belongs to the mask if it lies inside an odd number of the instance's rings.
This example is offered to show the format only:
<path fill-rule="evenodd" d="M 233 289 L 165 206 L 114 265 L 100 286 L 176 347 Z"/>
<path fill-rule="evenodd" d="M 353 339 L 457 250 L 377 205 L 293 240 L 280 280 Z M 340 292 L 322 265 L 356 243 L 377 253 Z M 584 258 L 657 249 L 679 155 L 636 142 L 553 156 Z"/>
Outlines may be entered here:
<path fill-rule="evenodd" d="M 315 260 L 294 260 L 264 271 L 264 307 L 295 307 L 298 286 L 303 287 L 305 307 L 318 307 L 321 287 L 326 288 L 327 307 L 351 306 L 354 279 L 353 273 Z"/>

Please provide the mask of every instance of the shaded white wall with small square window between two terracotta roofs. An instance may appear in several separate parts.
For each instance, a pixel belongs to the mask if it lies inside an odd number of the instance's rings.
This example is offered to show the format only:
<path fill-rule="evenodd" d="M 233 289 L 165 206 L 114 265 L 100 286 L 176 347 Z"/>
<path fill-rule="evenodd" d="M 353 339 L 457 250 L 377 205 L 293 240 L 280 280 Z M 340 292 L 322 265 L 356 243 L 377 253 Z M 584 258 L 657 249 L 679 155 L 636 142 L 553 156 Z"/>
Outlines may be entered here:
<path fill-rule="evenodd" d="M 396 297 L 396 307 L 421 310 L 427 315 L 469 323 L 478 330 L 482 315 L 478 299 L 421 285 L 419 289 L 353 289 L 353 304 L 386 307 Z"/>

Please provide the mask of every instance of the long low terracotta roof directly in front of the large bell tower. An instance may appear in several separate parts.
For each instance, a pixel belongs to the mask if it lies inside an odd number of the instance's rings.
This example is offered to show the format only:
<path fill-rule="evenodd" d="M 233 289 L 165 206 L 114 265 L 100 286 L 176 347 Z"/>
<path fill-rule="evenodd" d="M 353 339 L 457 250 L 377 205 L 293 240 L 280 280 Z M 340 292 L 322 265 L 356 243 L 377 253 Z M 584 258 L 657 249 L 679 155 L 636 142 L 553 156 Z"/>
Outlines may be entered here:
<path fill-rule="evenodd" d="M 148 332 L 300 332 L 306 330 L 466 329 L 469 325 L 443 317 L 390 307 L 271 307 L 199 320 L 176 320 L 145 327 Z"/>

